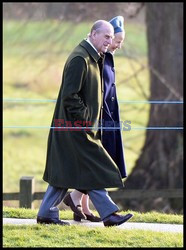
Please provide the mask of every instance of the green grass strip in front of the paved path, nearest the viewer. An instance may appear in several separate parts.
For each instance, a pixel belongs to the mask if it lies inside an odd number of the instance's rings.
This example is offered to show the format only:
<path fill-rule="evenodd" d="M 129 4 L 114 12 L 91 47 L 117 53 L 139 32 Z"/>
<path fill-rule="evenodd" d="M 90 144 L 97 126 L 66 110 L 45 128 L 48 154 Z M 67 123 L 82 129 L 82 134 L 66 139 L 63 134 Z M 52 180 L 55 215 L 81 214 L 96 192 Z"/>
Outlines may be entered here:
<path fill-rule="evenodd" d="M 183 234 L 117 227 L 6 225 L 3 247 L 183 247 Z"/>

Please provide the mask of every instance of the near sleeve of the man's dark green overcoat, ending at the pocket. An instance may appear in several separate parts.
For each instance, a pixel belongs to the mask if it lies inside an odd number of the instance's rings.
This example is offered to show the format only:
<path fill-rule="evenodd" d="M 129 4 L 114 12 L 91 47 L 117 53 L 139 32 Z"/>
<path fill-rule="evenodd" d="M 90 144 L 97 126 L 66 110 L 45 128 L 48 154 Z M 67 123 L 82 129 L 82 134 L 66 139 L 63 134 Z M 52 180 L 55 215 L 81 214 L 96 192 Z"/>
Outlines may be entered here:
<path fill-rule="evenodd" d="M 88 109 L 81 95 L 86 74 L 87 65 L 80 56 L 73 58 L 65 68 L 62 102 L 69 120 L 88 120 Z"/>

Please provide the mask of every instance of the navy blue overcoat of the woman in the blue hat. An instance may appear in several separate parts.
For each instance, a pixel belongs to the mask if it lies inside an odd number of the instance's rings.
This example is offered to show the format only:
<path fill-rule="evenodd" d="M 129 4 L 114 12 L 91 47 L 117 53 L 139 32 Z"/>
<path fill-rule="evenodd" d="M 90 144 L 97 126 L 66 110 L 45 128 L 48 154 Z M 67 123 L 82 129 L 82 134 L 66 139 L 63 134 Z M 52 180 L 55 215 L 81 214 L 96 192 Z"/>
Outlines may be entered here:
<path fill-rule="evenodd" d="M 105 54 L 104 70 L 104 98 L 103 98 L 103 126 L 120 127 L 118 100 L 116 95 L 115 70 L 113 55 Z M 118 166 L 122 178 L 127 176 L 123 154 L 121 130 L 106 130 L 102 132 L 102 144 Z"/>

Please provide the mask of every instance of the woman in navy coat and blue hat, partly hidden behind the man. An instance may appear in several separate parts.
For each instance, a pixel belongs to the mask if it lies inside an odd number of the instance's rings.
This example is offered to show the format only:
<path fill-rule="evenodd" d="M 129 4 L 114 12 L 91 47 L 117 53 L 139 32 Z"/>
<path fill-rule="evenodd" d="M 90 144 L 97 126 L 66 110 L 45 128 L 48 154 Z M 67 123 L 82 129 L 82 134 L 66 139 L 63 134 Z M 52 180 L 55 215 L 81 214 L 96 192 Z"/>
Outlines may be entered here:
<path fill-rule="evenodd" d="M 103 95 L 103 115 L 102 115 L 102 132 L 101 141 L 104 148 L 107 150 L 111 158 L 119 168 L 121 178 L 125 178 L 126 167 L 123 154 L 123 145 L 120 128 L 119 107 L 116 95 L 115 70 L 114 70 L 114 53 L 120 49 L 125 38 L 124 18 L 122 16 L 114 17 L 110 20 L 114 28 L 114 39 L 105 53 L 103 80 L 104 80 L 104 95 Z M 108 127 L 112 127 L 108 129 Z M 115 128 L 115 129 L 114 129 Z M 89 197 L 83 195 L 80 191 L 74 190 L 66 196 L 64 202 L 68 205 L 68 200 L 73 201 L 77 206 L 82 207 L 84 216 L 87 220 L 99 222 L 100 219 L 94 216 L 89 209 Z M 81 218 L 74 213 L 74 220 L 80 221 Z"/>

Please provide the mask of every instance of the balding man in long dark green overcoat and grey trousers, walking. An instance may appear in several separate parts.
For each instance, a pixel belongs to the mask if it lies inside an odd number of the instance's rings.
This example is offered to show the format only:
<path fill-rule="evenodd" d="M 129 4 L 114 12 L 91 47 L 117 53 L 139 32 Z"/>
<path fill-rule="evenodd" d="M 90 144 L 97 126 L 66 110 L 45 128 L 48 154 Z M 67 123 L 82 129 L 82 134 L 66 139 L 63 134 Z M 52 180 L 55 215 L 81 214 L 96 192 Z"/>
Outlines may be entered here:
<path fill-rule="evenodd" d="M 48 138 L 43 179 L 49 183 L 37 222 L 66 225 L 59 220 L 57 205 L 68 188 L 88 193 L 105 226 L 120 225 L 131 214 L 116 214 L 117 205 L 105 188 L 123 187 L 118 167 L 101 143 L 103 82 L 101 53 L 112 43 L 109 22 L 94 23 L 89 40 L 83 40 L 70 54 Z M 82 127 L 82 129 L 80 129 Z M 78 207 L 74 207 L 81 214 Z"/>

